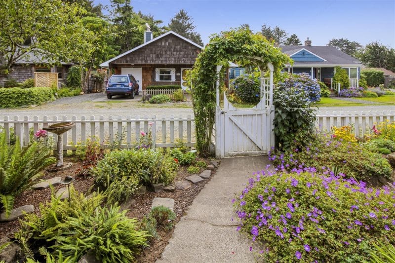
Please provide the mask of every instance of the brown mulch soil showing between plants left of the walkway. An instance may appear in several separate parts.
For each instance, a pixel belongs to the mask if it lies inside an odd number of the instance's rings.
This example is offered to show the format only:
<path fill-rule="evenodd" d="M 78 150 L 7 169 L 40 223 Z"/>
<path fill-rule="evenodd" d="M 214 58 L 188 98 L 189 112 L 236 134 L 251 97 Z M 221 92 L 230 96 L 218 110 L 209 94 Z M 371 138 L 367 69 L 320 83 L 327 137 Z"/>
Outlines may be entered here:
<path fill-rule="evenodd" d="M 73 166 L 65 171 L 59 171 L 55 173 L 50 173 L 44 171 L 43 180 L 50 179 L 53 177 L 66 177 L 67 175 L 73 176 L 76 180 L 73 182 L 74 188 L 78 192 L 85 193 L 93 184 L 92 177 L 79 177 L 77 176 L 78 172 L 82 168 L 82 164 L 79 161 L 75 161 L 75 159 L 65 157 L 65 161 L 72 161 Z M 204 161 L 209 164 L 208 159 L 204 159 Z M 204 169 L 201 169 L 204 170 Z M 212 171 L 211 176 L 215 174 L 215 170 Z M 177 176 L 175 178 L 175 182 L 183 180 L 185 177 L 190 176 L 187 172 L 187 167 L 180 166 Z M 209 182 L 210 179 L 204 179 L 203 181 L 192 185 L 191 188 L 186 190 L 176 189 L 174 192 L 152 192 L 147 190 L 146 193 L 140 195 L 134 195 L 132 198 L 136 201 L 129 208 L 129 212 L 127 216 L 130 218 L 137 218 L 138 220 L 143 219 L 145 215 L 147 215 L 151 211 L 152 201 L 155 197 L 163 197 L 163 198 L 172 198 L 174 199 L 174 212 L 177 215 L 176 223 L 181 219 L 181 217 L 186 213 L 189 205 L 192 204 L 194 198 L 200 192 L 200 190 L 204 187 L 204 185 Z M 54 192 L 56 192 L 59 188 L 64 188 L 63 185 L 54 186 Z M 31 204 L 35 208 L 36 214 L 39 214 L 39 205 L 40 203 L 50 202 L 51 200 L 51 189 L 41 189 L 41 190 L 33 190 L 28 189 L 24 191 L 20 196 L 15 198 L 14 208 Z M 18 231 L 20 228 L 19 220 L 0 223 L 0 238 L 7 236 L 9 238 L 14 237 L 14 232 Z M 145 248 L 142 253 L 137 256 L 137 262 L 140 263 L 154 263 L 160 257 L 160 254 L 163 252 L 164 248 L 168 244 L 168 240 L 173 234 L 173 230 L 165 231 L 158 228 L 158 239 L 154 239 L 151 241 L 150 247 Z"/>

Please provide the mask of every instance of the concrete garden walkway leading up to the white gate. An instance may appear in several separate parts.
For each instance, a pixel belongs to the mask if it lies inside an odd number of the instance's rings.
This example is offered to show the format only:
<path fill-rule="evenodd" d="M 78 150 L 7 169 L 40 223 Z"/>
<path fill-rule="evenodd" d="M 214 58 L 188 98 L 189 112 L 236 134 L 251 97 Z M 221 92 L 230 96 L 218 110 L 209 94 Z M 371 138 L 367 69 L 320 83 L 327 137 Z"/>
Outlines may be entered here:
<path fill-rule="evenodd" d="M 222 159 L 217 173 L 176 225 L 158 263 L 253 262 L 250 241 L 237 231 L 232 199 L 252 173 L 269 164 L 267 156 Z"/>

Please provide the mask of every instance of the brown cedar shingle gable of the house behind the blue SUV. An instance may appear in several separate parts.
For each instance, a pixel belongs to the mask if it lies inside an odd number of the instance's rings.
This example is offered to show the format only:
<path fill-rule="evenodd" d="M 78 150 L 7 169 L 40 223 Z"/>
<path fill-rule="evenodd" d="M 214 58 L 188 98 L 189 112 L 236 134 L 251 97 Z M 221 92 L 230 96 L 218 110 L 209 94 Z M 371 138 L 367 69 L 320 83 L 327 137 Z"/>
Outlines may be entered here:
<path fill-rule="evenodd" d="M 193 65 L 200 49 L 172 34 L 139 48 L 110 64 Z"/>

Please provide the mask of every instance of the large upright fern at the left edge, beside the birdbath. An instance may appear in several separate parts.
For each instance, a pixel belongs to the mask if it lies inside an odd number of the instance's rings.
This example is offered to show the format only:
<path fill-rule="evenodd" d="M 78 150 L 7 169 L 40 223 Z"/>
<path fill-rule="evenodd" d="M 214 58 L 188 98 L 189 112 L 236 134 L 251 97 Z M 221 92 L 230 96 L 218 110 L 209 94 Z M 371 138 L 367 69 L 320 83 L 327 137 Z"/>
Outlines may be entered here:
<path fill-rule="evenodd" d="M 0 133 L 0 205 L 7 217 L 15 197 L 37 183 L 42 176 L 40 171 L 55 162 L 49 154 L 50 149 L 37 142 L 21 147 L 19 138 L 9 146 L 5 134 Z"/>

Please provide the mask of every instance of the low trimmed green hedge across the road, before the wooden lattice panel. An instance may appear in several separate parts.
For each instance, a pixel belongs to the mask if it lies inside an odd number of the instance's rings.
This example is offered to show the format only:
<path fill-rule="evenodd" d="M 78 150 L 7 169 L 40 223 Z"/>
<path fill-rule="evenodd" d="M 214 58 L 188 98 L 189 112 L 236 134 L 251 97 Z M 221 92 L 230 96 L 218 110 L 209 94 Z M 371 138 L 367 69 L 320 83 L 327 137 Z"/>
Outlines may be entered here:
<path fill-rule="evenodd" d="M 40 105 L 54 99 L 52 89 L 48 87 L 0 88 L 0 109 L 32 104 Z"/>

